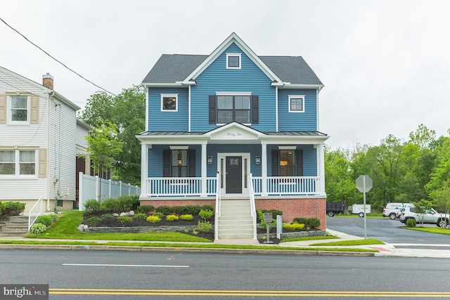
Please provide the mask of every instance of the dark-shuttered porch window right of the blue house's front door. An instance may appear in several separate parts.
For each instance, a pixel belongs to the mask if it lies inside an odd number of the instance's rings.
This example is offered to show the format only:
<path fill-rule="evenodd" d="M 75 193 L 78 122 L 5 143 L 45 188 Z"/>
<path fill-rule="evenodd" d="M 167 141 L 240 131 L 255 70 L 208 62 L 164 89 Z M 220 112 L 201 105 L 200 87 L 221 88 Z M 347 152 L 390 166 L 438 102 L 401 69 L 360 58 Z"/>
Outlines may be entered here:
<path fill-rule="evenodd" d="M 303 151 L 272 150 L 272 176 L 303 176 Z"/>

